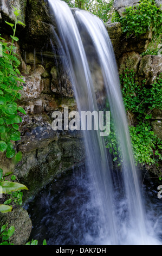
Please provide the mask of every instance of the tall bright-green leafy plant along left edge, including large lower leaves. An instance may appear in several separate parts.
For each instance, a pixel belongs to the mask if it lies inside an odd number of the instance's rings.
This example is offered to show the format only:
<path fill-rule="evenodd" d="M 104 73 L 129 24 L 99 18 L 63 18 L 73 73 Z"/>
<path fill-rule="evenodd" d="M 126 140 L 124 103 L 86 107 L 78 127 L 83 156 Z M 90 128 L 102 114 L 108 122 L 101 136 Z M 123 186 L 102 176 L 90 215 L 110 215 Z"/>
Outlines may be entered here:
<path fill-rule="evenodd" d="M 20 100 L 22 90 L 22 83 L 24 82 L 18 66 L 20 60 L 17 58 L 15 41 L 18 41 L 16 34 L 17 23 L 24 25 L 17 20 L 20 10 L 14 8 L 16 17 L 15 24 L 6 22 L 13 30 L 11 35 L 11 44 L 0 37 L 0 46 L 2 49 L 2 56 L 0 57 L 0 151 L 5 152 L 6 156 L 11 159 L 14 157 L 14 162 L 17 163 L 22 159 L 22 153 L 16 153 L 14 149 L 14 142 L 21 139 L 21 133 L 18 131 L 18 124 L 21 123 L 22 118 L 18 112 L 25 114 L 24 109 L 18 106 L 16 100 Z M 24 25 L 25 26 L 25 25 Z M 0 187 L 2 193 L 10 193 L 18 190 L 28 190 L 28 188 L 17 182 L 10 182 L 3 180 L 3 170 L 0 169 Z M 11 211 L 12 207 L 9 205 L 0 205 L 0 212 Z"/>

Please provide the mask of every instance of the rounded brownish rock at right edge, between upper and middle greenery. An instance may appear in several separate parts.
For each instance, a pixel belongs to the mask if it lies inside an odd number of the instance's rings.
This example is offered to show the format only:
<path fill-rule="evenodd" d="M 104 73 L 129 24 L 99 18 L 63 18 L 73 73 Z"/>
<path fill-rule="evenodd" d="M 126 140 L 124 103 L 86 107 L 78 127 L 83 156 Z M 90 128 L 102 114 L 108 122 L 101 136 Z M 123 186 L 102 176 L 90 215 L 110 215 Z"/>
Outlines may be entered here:
<path fill-rule="evenodd" d="M 155 78 L 162 72 L 162 57 L 146 55 L 141 59 L 138 71 L 138 80 L 145 80 L 146 84 L 152 84 Z"/>

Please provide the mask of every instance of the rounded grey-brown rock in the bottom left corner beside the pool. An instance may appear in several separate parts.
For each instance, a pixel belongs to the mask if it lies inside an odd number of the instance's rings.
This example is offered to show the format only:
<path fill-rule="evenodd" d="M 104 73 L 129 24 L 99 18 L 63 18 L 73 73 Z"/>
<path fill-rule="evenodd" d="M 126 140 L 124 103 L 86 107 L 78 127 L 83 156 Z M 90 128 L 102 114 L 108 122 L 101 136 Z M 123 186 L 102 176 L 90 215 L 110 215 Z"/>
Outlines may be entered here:
<path fill-rule="evenodd" d="M 11 243 L 14 243 L 14 245 L 25 245 L 29 239 L 32 228 L 28 212 L 23 208 L 16 208 L 7 214 L 0 213 L 1 227 L 7 223 L 8 228 L 11 227 L 11 225 L 15 227 L 15 233 L 11 236 Z"/>

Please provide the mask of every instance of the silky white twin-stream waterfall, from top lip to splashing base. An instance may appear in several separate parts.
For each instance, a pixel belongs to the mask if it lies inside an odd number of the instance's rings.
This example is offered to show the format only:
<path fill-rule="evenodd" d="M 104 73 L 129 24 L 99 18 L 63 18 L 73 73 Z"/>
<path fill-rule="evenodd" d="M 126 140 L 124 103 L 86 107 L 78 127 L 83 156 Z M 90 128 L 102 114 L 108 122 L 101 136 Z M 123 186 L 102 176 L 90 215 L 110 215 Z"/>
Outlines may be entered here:
<path fill-rule="evenodd" d="M 98 216 L 93 223 L 97 236 L 94 238 L 90 233 L 86 233 L 81 243 L 93 244 L 94 241 L 94 244 L 98 245 L 159 244 L 160 242 L 153 238 L 151 224 L 146 220 L 122 102 L 118 70 L 106 28 L 100 19 L 86 11 L 76 9 L 73 10 L 73 15 L 72 10 L 64 2 L 49 0 L 49 3 L 55 17 L 60 48 L 66 57 L 66 68 L 68 67 L 70 73 L 80 112 L 98 111 L 95 88 L 85 51 L 85 39 L 82 38 L 81 32 L 85 31 L 88 35 L 87 40 L 92 42 L 102 70 L 110 111 L 124 159 L 121 168 L 122 180 L 114 181 L 103 138 L 98 131 L 83 131 L 88 182 L 86 186 L 92 198 L 86 207 L 95 208 Z M 122 194 L 117 191 L 120 186 Z M 86 212 L 86 208 L 82 210 Z M 84 231 L 83 228 L 82 232 Z"/>

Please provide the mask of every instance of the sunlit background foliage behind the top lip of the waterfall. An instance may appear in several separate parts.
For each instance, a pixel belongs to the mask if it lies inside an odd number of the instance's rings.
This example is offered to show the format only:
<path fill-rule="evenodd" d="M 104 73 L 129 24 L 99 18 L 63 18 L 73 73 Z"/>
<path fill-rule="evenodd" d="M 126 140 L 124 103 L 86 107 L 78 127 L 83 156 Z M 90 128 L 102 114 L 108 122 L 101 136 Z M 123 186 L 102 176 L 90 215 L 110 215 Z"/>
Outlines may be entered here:
<path fill-rule="evenodd" d="M 104 22 L 111 17 L 113 11 L 114 0 L 64 0 L 69 7 L 79 8 L 100 17 Z"/>

